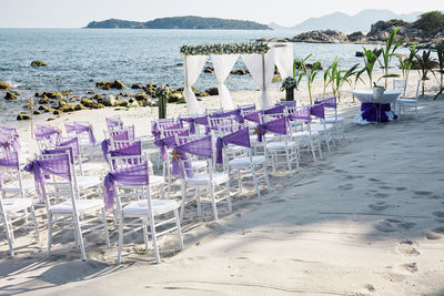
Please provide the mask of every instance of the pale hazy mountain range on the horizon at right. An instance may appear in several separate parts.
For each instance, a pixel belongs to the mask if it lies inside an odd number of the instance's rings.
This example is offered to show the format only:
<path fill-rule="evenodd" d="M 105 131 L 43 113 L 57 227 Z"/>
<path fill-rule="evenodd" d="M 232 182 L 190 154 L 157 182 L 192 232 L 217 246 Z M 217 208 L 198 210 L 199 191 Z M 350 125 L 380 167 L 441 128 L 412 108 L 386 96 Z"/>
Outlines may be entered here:
<path fill-rule="evenodd" d="M 340 30 L 346 33 L 355 31 L 367 32 L 372 23 L 377 21 L 387 21 L 391 19 L 401 19 L 407 22 L 415 21 L 422 12 L 412 12 L 408 14 L 396 14 L 385 9 L 365 9 L 355 16 L 349 16 L 343 12 L 334 12 L 321 18 L 310 18 L 293 29 L 297 32 L 312 30 Z"/>

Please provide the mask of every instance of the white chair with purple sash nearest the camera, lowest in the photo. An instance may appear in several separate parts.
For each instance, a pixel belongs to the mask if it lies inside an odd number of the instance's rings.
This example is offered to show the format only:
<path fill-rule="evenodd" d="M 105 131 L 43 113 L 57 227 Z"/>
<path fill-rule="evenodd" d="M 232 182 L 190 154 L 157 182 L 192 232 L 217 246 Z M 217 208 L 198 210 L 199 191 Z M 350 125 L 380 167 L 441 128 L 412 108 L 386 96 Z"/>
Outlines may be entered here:
<path fill-rule="evenodd" d="M 149 251 L 149 238 L 148 238 L 148 226 L 150 226 L 151 239 L 155 254 L 155 263 L 160 263 L 160 254 L 158 246 L 158 237 L 167 234 L 176 232 L 179 238 L 180 248 L 183 249 L 182 231 L 179 220 L 179 203 L 174 200 L 152 200 L 151 198 L 151 182 L 152 175 L 149 173 L 149 165 L 144 155 L 139 156 L 119 156 L 110 157 L 111 162 L 127 164 L 125 166 L 119 166 L 114 170 L 111 166 L 111 174 L 127 176 L 119 178 L 115 182 L 115 201 L 117 201 L 117 215 L 119 217 L 119 248 L 118 248 L 118 261 L 121 262 L 121 254 L 123 247 L 123 228 L 128 226 L 142 227 L 143 239 L 145 244 L 145 251 Z M 134 163 L 134 161 L 137 161 Z M 130 171 L 125 170 L 130 169 Z M 131 181 L 131 176 L 137 175 L 138 185 L 134 185 Z M 145 181 L 144 181 L 145 177 Z M 132 190 L 129 191 L 128 188 Z M 132 198 L 129 204 L 123 205 L 122 198 Z M 172 225 L 165 227 L 165 225 Z M 158 227 L 162 227 L 161 232 L 158 232 Z"/>

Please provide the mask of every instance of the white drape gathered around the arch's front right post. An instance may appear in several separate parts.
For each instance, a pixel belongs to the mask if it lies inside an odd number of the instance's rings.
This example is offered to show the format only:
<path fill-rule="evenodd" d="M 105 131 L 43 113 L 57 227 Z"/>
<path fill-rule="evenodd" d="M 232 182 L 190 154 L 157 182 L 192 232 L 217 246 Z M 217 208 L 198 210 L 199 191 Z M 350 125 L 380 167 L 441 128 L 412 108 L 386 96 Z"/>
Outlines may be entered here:
<path fill-rule="evenodd" d="M 271 84 L 274 74 L 274 51 L 270 50 L 265 54 L 242 54 L 242 59 L 246 68 L 250 70 L 250 74 L 253 76 L 254 82 L 262 91 L 261 100 L 259 100 L 260 108 L 269 108 L 270 103 L 266 89 Z"/>

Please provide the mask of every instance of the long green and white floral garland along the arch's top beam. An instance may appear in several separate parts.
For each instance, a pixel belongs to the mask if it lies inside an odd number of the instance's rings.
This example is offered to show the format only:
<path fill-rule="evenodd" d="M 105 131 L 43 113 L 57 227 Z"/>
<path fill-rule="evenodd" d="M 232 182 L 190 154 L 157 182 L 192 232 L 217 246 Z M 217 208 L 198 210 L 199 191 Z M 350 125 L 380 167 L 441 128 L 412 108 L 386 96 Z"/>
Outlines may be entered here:
<path fill-rule="evenodd" d="M 211 55 L 211 54 L 246 54 L 266 53 L 270 47 L 263 42 L 182 45 L 180 53 L 183 55 Z"/>

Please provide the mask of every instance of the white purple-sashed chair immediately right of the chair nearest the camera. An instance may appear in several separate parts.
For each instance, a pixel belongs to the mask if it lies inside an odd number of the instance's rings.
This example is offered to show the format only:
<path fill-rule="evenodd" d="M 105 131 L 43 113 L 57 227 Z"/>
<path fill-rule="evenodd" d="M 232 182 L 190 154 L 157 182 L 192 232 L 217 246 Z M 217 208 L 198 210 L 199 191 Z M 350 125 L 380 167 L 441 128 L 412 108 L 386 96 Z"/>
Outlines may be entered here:
<path fill-rule="evenodd" d="M 208 201 L 201 197 L 210 195 L 214 220 L 219 218 L 216 205 L 220 202 L 226 202 L 229 213 L 232 212 L 231 196 L 230 196 L 230 176 L 228 173 L 213 172 L 213 147 L 214 141 L 211 135 L 203 136 L 199 140 L 188 142 L 173 150 L 172 161 L 178 162 L 181 172 L 181 188 L 182 202 L 180 217 L 183 220 L 186 203 L 190 202 L 188 197 L 188 190 L 193 188 L 194 196 L 198 203 L 198 215 L 201 215 L 201 202 Z M 186 151 L 186 152 L 185 152 Z M 183 154 L 183 155 L 182 155 Z M 194 172 L 191 162 L 183 160 L 186 154 L 196 155 L 208 160 L 206 172 Z M 216 188 L 219 187 L 219 191 Z"/>

